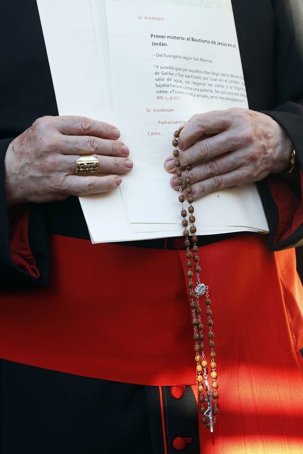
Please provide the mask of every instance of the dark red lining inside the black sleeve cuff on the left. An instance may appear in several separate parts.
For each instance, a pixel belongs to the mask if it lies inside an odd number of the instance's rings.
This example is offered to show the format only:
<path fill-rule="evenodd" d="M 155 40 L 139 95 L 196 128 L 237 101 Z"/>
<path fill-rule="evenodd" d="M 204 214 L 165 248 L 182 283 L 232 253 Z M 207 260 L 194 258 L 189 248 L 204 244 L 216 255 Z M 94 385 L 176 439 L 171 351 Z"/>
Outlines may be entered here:
<path fill-rule="evenodd" d="M 9 210 L 10 252 L 14 265 L 23 268 L 35 278 L 40 277 L 35 258 L 28 241 L 29 212 L 25 205 L 17 205 Z"/>

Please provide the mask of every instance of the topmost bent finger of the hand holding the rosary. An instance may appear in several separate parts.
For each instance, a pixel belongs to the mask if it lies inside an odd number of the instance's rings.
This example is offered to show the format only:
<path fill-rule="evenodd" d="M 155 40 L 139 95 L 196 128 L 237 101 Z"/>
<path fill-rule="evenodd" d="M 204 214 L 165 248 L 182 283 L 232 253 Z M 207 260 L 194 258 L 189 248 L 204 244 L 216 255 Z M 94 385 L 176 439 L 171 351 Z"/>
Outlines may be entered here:
<path fill-rule="evenodd" d="M 179 148 L 186 150 L 204 134 L 226 131 L 232 124 L 232 113 L 228 110 L 212 110 L 191 117 L 180 132 Z"/>

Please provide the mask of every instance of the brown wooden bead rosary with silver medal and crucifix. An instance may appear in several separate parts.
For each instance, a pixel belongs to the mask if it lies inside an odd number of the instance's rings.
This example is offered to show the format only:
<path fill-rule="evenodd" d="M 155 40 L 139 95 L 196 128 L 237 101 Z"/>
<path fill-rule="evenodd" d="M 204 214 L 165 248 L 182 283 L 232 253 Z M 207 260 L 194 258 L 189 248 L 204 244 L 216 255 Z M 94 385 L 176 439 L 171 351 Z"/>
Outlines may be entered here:
<path fill-rule="evenodd" d="M 216 353 L 214 352 L 214 332 L 213 332 L 213 320 L 211 318 L 212 316 L 212 309 L 210 308 L 211 306 L 211 300 L 209 299 L 209 288 L 206 286 L 204 283 L 200 282 L 200 277 L 199 277 L 199 272 L 201 270 L 201 267 L 199 266 L 199 256 L 197 254 L 198 252 L 198 247 L 197 247 L 197 241 L 198 238 L 195 235 L 196 234 L 196 227 L 194 225 L 195 222 L 195 216 L 193 215 L 194 208 L 192 206 L 193 198 L 191 196 L 192 193 L 192 188 L 190 186 L 191 180 L 189 177 L 189 171 L 191 167 L 188 165 L 185 167 L 185 193 L 186 193 L 186 200 L 188 203 L 188 212 L 190 213 L 190 216 L 188 218 L 190 222 L 190 227 L 188 230 L 188 220 L 186 219 L 187 217 L 187 211 L 184 208 L 184 202 L 185 202 L 185 196 L 183 195 L 182 191 L 182 186 L 183 186 L 183 178 L 182 178 L 182 172 L 180 171 L 180 165 L 181 162 L 178 159 L 179 156 L 179 150 L 178 150 L 178 137 L 180 135 L 181 129 L 178 129 L 174 133 L 174 139 L 173 139 L 173 146 L 175 147 L 173 151 L 173 155 L 175 157 L 175 167 L 176 167 L 176 174 L 177 174 L 177 184 L 179 186 L 179 202 L 181 203 L 182 209 L 181 209 L 181 216 L 182 216 L 182 226 L 184 228 L 183 230 L 183 236 L 185 238 L 184 245 L 186 247 L 186 267 L 187 267 L 187 277 L 188 277 L 188 282 L 187 282 L 187 287 L 188 287 L 188 296 L 190 299 L 190 308 L 191 308 L 191 314 L 192 314 L 192 326 L 193 326 L 193 340 L 194 340 L 194 351 L 195 351 L 195 363 L 196 363 L 196 378 L 197 378 L 197 387 L 198 387 L 198 401 L 199 401 L 199 407 L 200 407 L 200 412 L 201 412 L 201 421 L 204 427 L 210 428 L 211 432 L 214 431 L 214 425 L 216 422 L 217 414 L 218 414 L 218 407 L 217 407 L 217 399 L 219 397 L 217 388 L 218 388 L 218 382 L 217 382 L 217 372 L 216 372 L 216 361 L 215 361 L 215 356 Z M 191 236 L 190 236 L 191 234 Z M 192 244 L 192 251 L 190 250 L 190 244 Z M 193 263 L 194 262 L 194 271 L 195 271 L 195 281 L 196 285 L 194 285 L 194 282 L 192 280 L 193 278 L 193 271 L 191 270 Z M 211 369 L 211 378 L 212 378 L 212 383 L 210 385 L 209 383 L 209 378 L 208 378 L 208 362 L 206 360 L 205 356 L 205 344 L 204 344 L 204 338 L 205 335 L 203 333 L 204 330 L 204 324 L 201 322 L 201 313 L 202 309 L 200 308 L 199 304 L 199 297 L 200 296 L 206 296 L 205 299 L 205 304 L 206 304 L 206 315 L 207 315 L 207 325 L 209 328 L 209 331 L 207 333 L 208 337 L 208 346 L 209 346 L 209 356 L 210 356 L 210 364 L 209 367 Z M 213 388 L 211 390 L 211 387 Z M 205 393 L 204 393 L 205 392 Z"/>

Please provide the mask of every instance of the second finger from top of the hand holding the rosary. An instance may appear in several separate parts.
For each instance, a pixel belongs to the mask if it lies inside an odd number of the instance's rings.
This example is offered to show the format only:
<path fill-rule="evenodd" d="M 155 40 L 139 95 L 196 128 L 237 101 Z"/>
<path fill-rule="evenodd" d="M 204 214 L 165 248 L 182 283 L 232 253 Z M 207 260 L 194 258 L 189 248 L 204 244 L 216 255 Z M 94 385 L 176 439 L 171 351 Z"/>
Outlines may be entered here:
<path fill-rule="evenodd" d="M 186 165 L 194 164 L 201 159 L 209 160 L 227 151 L 234 151 L 240 146 L 240 138 L 234 135 L 232 131 L 227 131 L 209 139 L 200 140 L 187 150 L 181 151 L 178 160 L 181 163 L 181 168 L 184 168 Z M 175 158 L 173 156 L 167 158 L 164 165 L 167 171 L 176 172 Z"/>

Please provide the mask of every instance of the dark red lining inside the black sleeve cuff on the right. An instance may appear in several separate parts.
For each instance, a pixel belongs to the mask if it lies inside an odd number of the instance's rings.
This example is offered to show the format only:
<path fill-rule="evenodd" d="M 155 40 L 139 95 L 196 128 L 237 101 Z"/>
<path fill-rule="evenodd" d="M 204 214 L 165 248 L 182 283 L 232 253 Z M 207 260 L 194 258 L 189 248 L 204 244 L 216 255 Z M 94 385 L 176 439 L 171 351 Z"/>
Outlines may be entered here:
<path fill-rule="evenodd" d="M 281 177 L 270 175 L 266 182 L 279 211 L 279 222 L 274 238 L 277 244 L 288 238 L 303 223 L 303 203 Z M 301 193 L 303 194 L 303 174 L 300 172 Z"/>

